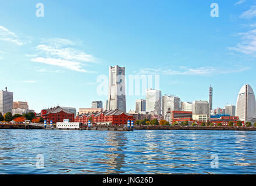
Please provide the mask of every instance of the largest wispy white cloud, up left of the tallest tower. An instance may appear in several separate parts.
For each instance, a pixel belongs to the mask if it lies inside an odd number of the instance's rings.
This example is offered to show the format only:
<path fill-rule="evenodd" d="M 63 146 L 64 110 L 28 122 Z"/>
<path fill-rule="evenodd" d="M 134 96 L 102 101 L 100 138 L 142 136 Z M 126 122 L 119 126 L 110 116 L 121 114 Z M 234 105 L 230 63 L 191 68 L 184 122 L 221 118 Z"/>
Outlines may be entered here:
<path fill-rule="evenodd" d="M 37 57 L 31 58 L 33 62 L 64 67 L 65 69 L 84 73 L 94 73 L 94 71 L 84 69 L 84 66 L 88 63 L 97 63 L 93 55 L 76 48 L 67 47 L 77 45 L 76 42 L 62 38 L 44 39 L 42 42 L 46 43 L 37 46 L 36 49 L 39 53 Z"/>

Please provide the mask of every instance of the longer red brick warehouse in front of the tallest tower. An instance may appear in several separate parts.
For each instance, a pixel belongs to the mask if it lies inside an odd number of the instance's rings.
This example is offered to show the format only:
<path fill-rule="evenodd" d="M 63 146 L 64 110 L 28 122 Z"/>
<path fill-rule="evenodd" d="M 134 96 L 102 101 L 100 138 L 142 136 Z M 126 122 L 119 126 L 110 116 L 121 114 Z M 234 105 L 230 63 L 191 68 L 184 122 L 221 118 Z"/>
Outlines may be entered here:
<path fill-rule="evenodd" d="M 88 124 L 88 121 L 93 124 L 109 124 L 109 125 L 122 125 L 127 124 L 128 120 L 134 120 L 133 115 L 122 112 L 119 109 L 106 110 L 97 113 L 84 113 L 76 116 L 75 122 Z"/>

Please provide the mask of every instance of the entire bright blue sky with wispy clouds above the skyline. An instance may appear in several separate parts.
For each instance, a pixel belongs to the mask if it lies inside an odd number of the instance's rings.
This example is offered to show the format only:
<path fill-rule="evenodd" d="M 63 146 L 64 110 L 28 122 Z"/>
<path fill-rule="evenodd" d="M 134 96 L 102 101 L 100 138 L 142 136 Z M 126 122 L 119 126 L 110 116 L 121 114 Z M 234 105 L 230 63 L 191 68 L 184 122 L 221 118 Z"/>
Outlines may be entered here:
<path fill-rule="evenodd" d="M 181 101 L 208 100 L 212 85 L 223 108 L 244 84 L 256 91 L 255 59 L 256 1 L 0 2 L 0 89 L 35 112 L 105 103 L 115 65 L 127 78 L 159 77 L 162 95 Z M 140 92 L 126 95 L 127 111 Z"/>

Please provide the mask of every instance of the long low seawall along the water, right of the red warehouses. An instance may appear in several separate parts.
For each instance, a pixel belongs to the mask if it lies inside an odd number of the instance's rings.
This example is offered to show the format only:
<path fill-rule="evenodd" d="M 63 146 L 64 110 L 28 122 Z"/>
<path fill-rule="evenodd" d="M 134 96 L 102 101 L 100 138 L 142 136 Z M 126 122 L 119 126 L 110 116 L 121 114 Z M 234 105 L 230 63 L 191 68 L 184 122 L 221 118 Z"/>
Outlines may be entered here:
<path fill-rule="evenodd" d="M 189 127 L 189 126 L 134 126 L 135 130 L 242 130 L 256 131 L 256 127 Z"/>

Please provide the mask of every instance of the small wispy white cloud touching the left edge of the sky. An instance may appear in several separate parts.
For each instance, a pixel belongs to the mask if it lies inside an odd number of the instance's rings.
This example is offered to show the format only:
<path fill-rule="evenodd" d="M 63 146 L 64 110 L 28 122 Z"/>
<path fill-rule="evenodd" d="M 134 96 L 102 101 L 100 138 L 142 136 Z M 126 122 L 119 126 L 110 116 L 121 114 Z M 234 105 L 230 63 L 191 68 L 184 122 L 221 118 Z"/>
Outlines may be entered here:
<path fill-rule="evenodd" d="M 16 45 L 23 45 L 23 42 L 20 41 L 15 33 L 8 30 L 7 28 L 0 26 L 0 40 L 12 42 Z"/>

